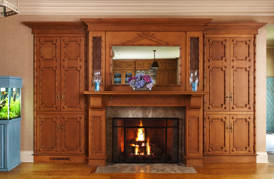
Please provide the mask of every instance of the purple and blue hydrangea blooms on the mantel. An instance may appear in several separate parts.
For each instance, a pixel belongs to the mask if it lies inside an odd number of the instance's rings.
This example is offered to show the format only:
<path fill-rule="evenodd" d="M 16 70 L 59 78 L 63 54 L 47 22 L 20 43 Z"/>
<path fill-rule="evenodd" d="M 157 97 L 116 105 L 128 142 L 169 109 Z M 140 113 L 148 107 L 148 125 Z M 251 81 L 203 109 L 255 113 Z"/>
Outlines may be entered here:
<path fill-rule="evenodd" d="M 144 85 L 147 88 L 152 88 L 153 79 L 149 75 L 145 75 L 143 73 L 138 73 L 134 77 L 129 77 L 128 82 L 132 88 L 141 88 Z"/>

